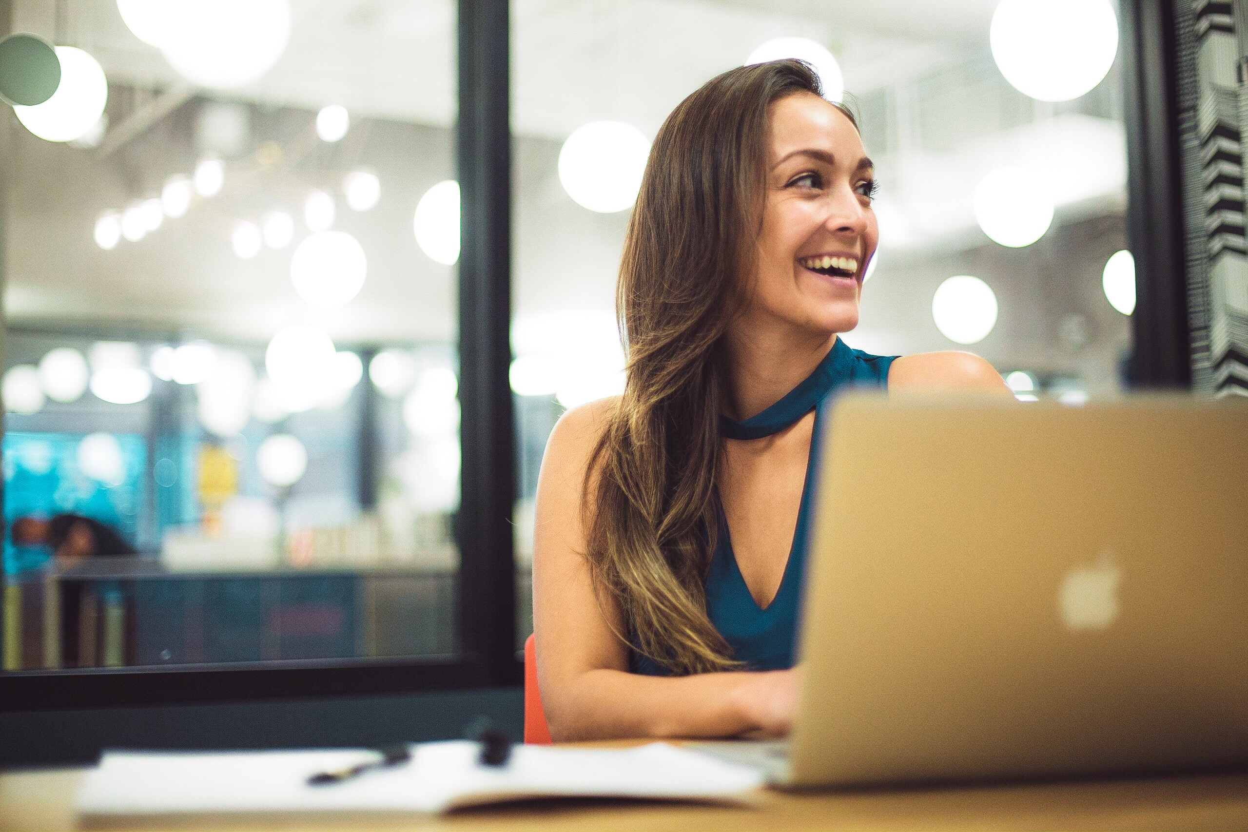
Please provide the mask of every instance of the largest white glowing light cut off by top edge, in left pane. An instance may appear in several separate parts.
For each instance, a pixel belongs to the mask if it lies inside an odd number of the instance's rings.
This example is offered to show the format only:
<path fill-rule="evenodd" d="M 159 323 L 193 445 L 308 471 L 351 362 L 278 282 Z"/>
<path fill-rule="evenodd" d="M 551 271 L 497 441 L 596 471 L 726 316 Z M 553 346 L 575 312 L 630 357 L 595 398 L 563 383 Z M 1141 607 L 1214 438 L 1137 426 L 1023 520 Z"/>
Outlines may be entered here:
<path fill-rule="evenodd" d="M 290 0 L 181 0 L 152 26 L 173 70 L 213 90 L 262 77 L 291 37 Z M 162 31 L 161 31 L 162 29 Z"/>

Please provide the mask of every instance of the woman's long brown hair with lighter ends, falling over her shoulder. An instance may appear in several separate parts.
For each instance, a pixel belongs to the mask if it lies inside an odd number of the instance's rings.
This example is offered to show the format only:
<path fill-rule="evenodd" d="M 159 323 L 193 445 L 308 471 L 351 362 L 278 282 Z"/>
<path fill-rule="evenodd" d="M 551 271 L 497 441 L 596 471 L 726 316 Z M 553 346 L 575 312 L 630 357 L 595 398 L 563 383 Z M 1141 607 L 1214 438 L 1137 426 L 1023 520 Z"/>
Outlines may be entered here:
<path fill-rule="evenodd" d="M 801 61 L 743 66 L 668 116 L 620 262 L 628 383 L 585 479 L 588 555 L 636 652 L 674 674 L 738 667 L 706 615 L 728 378 L 721 342 L 746 298 L 766 187 L 768 109 L 820 94 Z"/>

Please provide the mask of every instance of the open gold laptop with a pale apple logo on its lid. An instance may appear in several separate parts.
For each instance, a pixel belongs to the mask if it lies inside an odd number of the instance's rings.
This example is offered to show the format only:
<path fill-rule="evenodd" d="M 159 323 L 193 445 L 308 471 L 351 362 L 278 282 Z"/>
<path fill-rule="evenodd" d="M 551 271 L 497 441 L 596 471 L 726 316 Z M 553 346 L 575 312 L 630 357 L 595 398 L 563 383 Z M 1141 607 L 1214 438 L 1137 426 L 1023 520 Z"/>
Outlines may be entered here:
<path fill-rule="evenodd" d="M 1248 765 L 1248 403 L 846 397 L 792 786 Z"/>

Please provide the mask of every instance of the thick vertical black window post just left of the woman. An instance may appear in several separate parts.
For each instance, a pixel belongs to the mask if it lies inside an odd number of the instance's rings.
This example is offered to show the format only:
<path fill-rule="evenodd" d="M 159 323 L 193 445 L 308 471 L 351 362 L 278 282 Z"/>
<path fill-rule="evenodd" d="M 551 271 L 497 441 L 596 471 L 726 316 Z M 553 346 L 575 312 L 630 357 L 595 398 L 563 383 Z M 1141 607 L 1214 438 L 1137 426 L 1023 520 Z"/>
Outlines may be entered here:
<path fill-rule="evenodd" d="M 512 506 L 512 138 L 509 0 L 459 1 L 459 509 L 458 632 L 494 684 L 519 681 Z"/>

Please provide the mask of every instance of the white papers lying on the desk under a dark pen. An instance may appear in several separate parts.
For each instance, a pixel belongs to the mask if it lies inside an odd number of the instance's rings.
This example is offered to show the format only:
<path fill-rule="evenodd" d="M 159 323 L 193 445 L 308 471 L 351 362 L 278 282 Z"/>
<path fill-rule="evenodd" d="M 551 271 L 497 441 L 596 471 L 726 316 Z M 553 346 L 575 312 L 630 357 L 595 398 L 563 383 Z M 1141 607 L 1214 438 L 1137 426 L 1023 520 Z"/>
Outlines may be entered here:
<path fill-rule="evenodd" d="M 525 797 L 745 802 L 760 771 L 655 742 L 636 748 L 518 745 L 504 767 L 475 742 L 413 746 L 412 762 L 308 786 L 321 771 L 377 760 L 369 751 L 107 752 L 77 795 L 81 816 L 442 812 Z"/>

